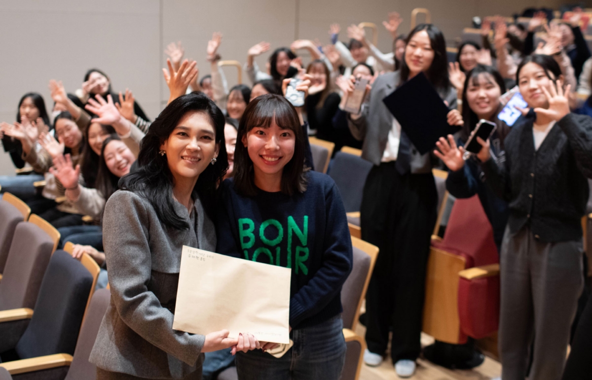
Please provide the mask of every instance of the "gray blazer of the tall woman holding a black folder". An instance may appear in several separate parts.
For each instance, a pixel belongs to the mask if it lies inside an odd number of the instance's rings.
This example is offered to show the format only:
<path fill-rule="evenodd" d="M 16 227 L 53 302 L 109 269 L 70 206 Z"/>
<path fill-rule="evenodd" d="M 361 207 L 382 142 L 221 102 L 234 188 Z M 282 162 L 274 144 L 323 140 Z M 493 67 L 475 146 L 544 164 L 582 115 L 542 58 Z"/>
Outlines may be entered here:
<path fill-rule="evenodd" d="M 349 130 L 355 139 L 363 141 L 362 158 L 380 165 L 382 154 L 387 146 L 388 132 L 392 128 L 394 116 L 382 99 L 392 94 L 401 81 L 400 71 L 385 73 L 372 84 L 370 101 L 362 110 L 362 116 L 357 120 L 348 117 Z M 440 98 L 448 102 L 449 108 L 456 108 L 456 89 L 452 86 Z M 426 112 L 430 110 L 426 109 Z M 411 145 L 411 173 L 429 173 L 432 170 L 430 153 L 420 154 Z"/>

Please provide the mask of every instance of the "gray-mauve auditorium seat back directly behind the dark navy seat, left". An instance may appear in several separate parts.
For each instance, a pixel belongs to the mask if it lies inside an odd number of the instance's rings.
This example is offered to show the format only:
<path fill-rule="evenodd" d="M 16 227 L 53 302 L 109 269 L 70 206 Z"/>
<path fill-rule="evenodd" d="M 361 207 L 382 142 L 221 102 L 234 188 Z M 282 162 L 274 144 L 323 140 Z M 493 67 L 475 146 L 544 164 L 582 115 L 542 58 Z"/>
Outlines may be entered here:
<path fill-rule="evenodd" d="M 35 214 L 18 223 L 0 282 L 0 311 L 34 307 L 56 237 L 59 232 Z"/>

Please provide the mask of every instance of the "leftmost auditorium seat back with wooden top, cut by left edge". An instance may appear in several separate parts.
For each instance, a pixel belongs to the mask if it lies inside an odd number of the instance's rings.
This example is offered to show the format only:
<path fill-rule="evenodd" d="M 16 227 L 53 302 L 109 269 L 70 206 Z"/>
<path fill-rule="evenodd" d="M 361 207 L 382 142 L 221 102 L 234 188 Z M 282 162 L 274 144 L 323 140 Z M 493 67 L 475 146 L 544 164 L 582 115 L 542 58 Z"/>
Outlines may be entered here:
<path fill-rule="evenodd" d="M 31 208 L 14 195 L 5 192 L 0 200 L 0 280 L 4 273 L 4 266 L 8 259 L 12 236 L 17 224 L 26 221 L 31 214 Z"/>

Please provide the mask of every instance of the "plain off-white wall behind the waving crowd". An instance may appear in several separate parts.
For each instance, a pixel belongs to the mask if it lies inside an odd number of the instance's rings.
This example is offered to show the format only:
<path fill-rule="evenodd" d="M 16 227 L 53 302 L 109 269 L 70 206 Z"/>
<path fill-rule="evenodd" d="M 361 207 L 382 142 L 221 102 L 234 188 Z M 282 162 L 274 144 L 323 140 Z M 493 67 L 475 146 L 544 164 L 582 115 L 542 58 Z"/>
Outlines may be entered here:
<path fill-rule="evenodd" d="M 48 111 L 53 106 L 47 83 L 63 80 L 66 91 L 82 83 L 87 69 L 106 72 L 115 91 L 130 88 L 150 118 L 166 104 L 162 79 L 163 50 L 183 41 L 185 56 L 196 59 L 200 76 L 210 72 L 205 47 L 213 31 L 223 33 L 223 59 L 246 60 L 246 51 L 265 40 L 272 49 L 296 38 L 329 42 L 329 24 L 345 28 L 361 21 L 379 25 L 382 51 L 391 40 L 381 26 L 387 12 L 404 18 L 410 28 L 413 8 L 428 8 L 432 22 L 450 45 L 475 15 L 511 15 L 526 7 L 556 8 L 561 0 L 0 0 L 0 121 L 14 121 L 18 99 L 40 92 Z M 269 53 L 268 53 L 269 54 Z M 265 65 L 268 54 L 259 57 Z M 229 84 L 236 74 L 228 71 Z M 246 79 L 244 79 L 246 80 Z M 250 84 L 250 83 L 249 83 Z M 1 150 L 1 149 L 0 149 Z M 0 175 L 14 173 L 8 154 L 0 153 Z"/>

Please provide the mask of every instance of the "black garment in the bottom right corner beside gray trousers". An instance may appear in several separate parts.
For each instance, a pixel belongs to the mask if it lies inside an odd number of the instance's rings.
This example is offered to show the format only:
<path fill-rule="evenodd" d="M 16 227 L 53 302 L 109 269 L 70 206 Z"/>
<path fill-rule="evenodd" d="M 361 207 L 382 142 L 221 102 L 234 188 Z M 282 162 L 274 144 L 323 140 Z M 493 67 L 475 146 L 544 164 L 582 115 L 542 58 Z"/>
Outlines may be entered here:
<path fill-rule="evenodd" d="M 592 376 L 592 297 L 588 298 L 580 323 L 571 342 L 570 357 L 565 364 L 564 380 L 584 380 Z"/>

